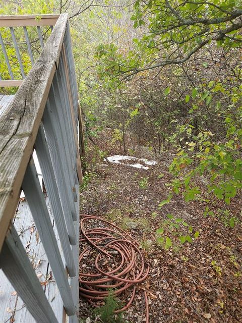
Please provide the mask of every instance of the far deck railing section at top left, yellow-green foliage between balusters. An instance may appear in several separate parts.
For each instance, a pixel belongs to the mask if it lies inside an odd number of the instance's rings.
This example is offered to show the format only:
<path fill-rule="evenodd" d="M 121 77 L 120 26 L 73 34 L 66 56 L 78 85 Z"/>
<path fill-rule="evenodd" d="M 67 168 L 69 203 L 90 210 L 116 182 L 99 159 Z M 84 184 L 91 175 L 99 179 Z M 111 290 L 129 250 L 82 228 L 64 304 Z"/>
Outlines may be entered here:
<path fill-rule="evenodd" d="M 22 84 L 58 17 L 59 15 L 0 16 L 0 56 L 6 65 L 6 72 L 0 75 L 0 87 Z"/>

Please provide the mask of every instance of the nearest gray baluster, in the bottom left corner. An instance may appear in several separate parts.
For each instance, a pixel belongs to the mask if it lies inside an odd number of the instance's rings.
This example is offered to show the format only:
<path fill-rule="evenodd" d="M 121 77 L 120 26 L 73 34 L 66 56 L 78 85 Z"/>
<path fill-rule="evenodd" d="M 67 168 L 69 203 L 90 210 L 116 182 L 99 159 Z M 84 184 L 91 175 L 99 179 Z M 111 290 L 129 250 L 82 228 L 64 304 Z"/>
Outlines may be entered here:
<path fill-rule="evenodd" d="M 6 236 L 0 265 L 36 321 L 58 323 L 14 226 Z"/>

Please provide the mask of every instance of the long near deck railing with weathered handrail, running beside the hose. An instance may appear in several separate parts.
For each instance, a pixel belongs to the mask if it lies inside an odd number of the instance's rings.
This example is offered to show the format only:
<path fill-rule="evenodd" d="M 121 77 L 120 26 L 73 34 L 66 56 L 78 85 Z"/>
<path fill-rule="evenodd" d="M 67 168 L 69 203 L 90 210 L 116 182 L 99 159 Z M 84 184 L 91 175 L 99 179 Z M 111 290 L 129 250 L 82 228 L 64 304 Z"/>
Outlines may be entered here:
<path fill-rule="evenodd" d="M 23 189 L 65 311 L 78 322 L 79 183 L 82 131 L 68 15 L 1 17 L 0 26 L 53 24 L 41 55 L 0 118 L 0 267 L 37 322 L 57 322 L 12 224 Z M 83 145 L 83 143 L 82 143 Z M 36 150 L 61 258 L 32 158 Z M 70 278 L 73 278 L 70 280 Z M 71 281 L 71 286 L 69 282 Z"/>

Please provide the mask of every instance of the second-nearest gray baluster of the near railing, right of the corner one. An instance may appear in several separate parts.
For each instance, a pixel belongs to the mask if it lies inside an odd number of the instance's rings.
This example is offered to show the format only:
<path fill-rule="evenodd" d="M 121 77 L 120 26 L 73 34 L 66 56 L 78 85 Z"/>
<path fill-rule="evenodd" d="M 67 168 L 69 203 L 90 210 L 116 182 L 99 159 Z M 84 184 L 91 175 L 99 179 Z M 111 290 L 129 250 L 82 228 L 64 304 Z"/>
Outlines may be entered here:
<path fill-rule="evenodd" d="M 22 188 L 31 210 L 36 228 L 45 249 L 48 261 L 53 270 L 53 275 L 57 283 L 59 292 L 68 315 L 75 314 L 75 306 L 72 299 L 68 277 L 65 272 L 61 254 L 53 233 L 52 224 L 45 204 L 44 196 L 41 191 L 38 175 L 31 158 L 27 167 Z M 41 217 L 40 217 L 41 214 Z"/>

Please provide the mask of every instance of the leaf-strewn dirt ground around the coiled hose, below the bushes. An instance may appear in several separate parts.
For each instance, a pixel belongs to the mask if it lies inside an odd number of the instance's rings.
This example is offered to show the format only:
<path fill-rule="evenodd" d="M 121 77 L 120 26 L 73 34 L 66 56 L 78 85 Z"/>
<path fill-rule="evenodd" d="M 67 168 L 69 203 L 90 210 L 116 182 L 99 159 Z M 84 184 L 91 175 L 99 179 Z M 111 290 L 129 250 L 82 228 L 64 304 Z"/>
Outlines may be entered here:
<path fill-rule="evenodd" d="M 108 139 L 104 139 L 98 144 L 109 155 L 124 154 L 118 145 L 109 145 L 107 149 Z M 169 153 L 158 157 L 148 148 L 132 150 L 137 157 L 157 161 L 157 165 L 142 170 L 98 163 L 94 150 L 90 148 L 88 158 L 95 167 L 89 167 L 88 180 L 81 188 L 81 213 L 103 217 L 129 231 L 139 241 L 150 265 L 149 277 L 139 286 L 132 306 L 124 313 L 125 319 L 130 323 L 145 321 L 145 287 L 150 323 L 242 322 L 241 223 L 231 229 L 224 220 L 214 229 L 217 218 L 204 217 L 207 204 L 202 197 L 186 203 L 177 195 L 158 209 L 169 192 Z M 160 174 L 163 176 L 158 179 Z M 219 207 L 216 201 L 209 206 L 215 213 Z M 234 198 L 229 210 L 241 220 L 241 197 Z M 175 236 L 176 230 L 169 229 L 167 214 L 183 219 L 193 232 L 200 233 L 199 237 L 191 243 L 177 241 L 164 250 L 157 242 L 156 230 L 163 227 L 164 235 L 170 237 Z M 91 312 L 90 304 L 80 299 L 80 316 L 89 317 Z"/>

